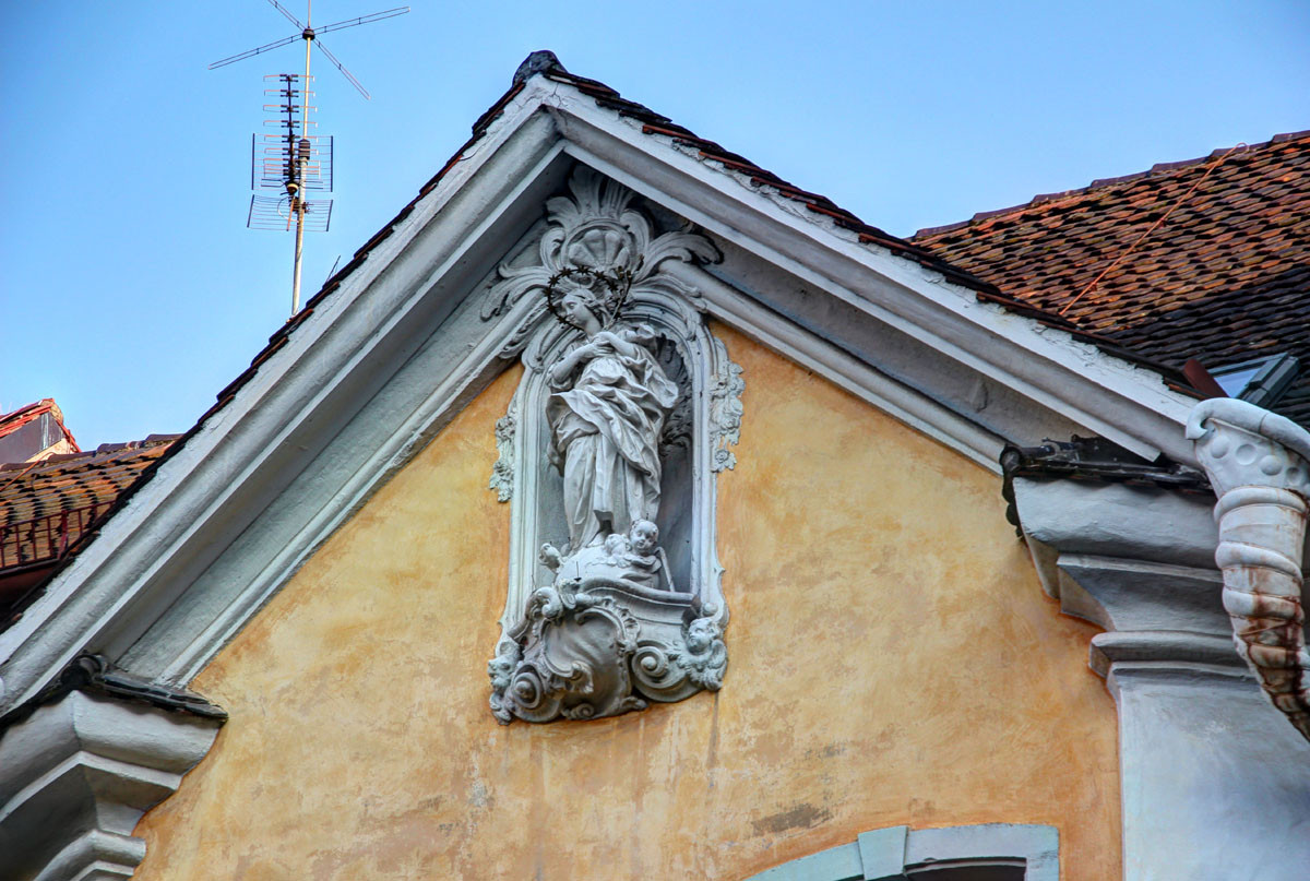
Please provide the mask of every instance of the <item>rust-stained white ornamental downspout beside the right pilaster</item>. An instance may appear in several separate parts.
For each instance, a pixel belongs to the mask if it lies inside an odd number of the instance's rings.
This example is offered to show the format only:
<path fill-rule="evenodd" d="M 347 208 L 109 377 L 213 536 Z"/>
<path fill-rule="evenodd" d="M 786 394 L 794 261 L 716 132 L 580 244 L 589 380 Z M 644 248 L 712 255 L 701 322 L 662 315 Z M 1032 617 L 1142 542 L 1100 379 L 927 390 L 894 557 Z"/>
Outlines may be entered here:
<path fill-rule="evenodd" d="M 1224 608 L 1237 652 L 1265 695 L 1310 741 L 1310 654 L 1302 553 L 1310 499 L 1310 433 L 1235 399 L 1201 401 L 1187 437 L 1218 497 L 1214 519 Z"/>

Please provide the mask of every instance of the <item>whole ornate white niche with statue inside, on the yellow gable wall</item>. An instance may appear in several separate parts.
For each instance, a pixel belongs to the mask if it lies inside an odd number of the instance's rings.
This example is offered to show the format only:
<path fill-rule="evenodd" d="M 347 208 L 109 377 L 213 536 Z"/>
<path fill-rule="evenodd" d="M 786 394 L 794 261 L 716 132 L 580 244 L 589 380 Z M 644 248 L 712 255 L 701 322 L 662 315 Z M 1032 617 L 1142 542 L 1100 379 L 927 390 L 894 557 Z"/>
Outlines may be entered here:
<path fill-rule="evenodd" d="M 683 700 L 727 667 L 715 481 L 736 461 L 741 368 L 701 295 L 664 271 L 718 250 L 690 228 L 656 232 L 635 201 L 576 166 L 536 261 L 500 266 L 482 307 L 519 316 L 502 357 L 524 367 L 490 484 L 512 505 L 487 663 L 503 724 Z"/>

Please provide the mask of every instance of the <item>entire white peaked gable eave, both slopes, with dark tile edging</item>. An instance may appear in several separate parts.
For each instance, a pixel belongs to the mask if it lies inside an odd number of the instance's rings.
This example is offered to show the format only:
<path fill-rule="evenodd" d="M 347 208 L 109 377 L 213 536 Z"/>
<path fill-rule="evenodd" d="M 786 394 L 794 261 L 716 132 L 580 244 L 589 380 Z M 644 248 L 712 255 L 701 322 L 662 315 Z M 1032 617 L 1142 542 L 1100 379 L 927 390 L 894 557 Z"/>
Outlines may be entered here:
<path fill-rule="evenodd" d="M 1073 431 L 1151 460 L 1192 455 L 1192 400 L 1161 372 L 534 54 L 441 172 L 119 497 L 101 540 L 0 631 L 0 715 L 85 652 L 189 682 L 507 368 L 536 302 L 487 312 L 487 281 L 532 253 L 578 166 L 715 243 L 720 262 L 668 267 L 707 317 L 981 467 L 1000 472 L 1007 440 Z"/>

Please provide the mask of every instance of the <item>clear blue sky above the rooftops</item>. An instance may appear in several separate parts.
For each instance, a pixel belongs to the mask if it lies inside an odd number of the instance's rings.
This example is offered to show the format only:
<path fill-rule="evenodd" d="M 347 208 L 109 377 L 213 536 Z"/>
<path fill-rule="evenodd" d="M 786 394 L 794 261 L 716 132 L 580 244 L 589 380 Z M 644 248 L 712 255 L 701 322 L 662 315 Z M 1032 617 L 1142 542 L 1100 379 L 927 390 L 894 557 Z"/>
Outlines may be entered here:
<path fill-rule="evenodd" d="M 286 0 L 304 18 L 304 0 Z M 326 24 L 397 5 L 318 0 Z M 897 235 L 1310 128 L 1310 4 L 410 4 L 325 37 L 333 231 L 307 296 L 552 49 Z M 0 412 L 55 397 L 84 447 L 185 431 L 290 307 L 291 237 L 245 228 L 265 0 L 13 4 L 0 52 Z"/>

